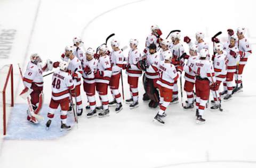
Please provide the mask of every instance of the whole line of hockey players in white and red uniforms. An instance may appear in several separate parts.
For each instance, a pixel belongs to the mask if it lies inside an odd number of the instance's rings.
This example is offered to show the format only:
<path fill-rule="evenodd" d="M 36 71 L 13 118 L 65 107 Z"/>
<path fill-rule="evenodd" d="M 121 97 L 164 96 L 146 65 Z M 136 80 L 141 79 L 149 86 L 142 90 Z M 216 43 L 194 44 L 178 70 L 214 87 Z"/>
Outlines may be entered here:
<path fill-rule="evenodd" d="M 236 34 L 235 34 L 236 33 Z M 218 35 L 212 37 L 214 53 L 209 54 L 209 44 L 204 41 L 204 33 L 197 32 L 193 42 L 188 36 L 183 41 L 189 47 L 189 54 L 181 44 L 180 30 L 173 30 L 166 39 L 162 39 L 162 31 L 157 25 L 151 26 L 151 34 L 146 39 L 146 48 L 141 53 L 138 39 L 130 39 L 130 51 L 124 56 L 117 39 L 111 40 L 111 52 L 106 44 L 100 45 L 96 52 L 87 48 L 84 52 L 82 39 L 75 37 L 74 45 L 67 46 L 60 61 L 47 60 L 41 65 L 41 58 L 37 54 L 30 56 L 27 70 L 23 77 L 25 89 L 23 97 L 30 96 L 33 110 L 28 110 L 27 120 L 38 123 L 38 113 L 43 104 L 43 72 L 57 68 L 52 74 L 52 98 L 47 114 L 46 128 L 58 106 L 61 107 L 61 130 L 71 129 L 67 125 L 68 111 L 73 111 L 75 121 L 77 116 L 83 114 L 81 85 L 86 93 L 89 105 L 86 106 L 88 118 L 92 116 L 104 117 L 109 115 L 109 106 L 116 106 L 115 112 L 123 109 L 122 97 L 119 90 L 119 81 L 123 82 L 122 71 L 127 74 L 130 86 L 129 99 L 125 103 L 129 107 L 139 106 L 139 78 L 143 74 L 143 101 L 149 102 L 149 107 L 159 110 L 154 121 L 164 124 L 166 108 L 169 104 L 179 103 L 178 80 L 180 80 L 181 104 L 184 110 L 195 109 L 196 122 L 204 123 L 203 114 L 209 103 L 210 90 L 211 110 L 220 110 L 221 96 L 223 100 L 230 100 L 233 94 L 242 91 L 242 74 L 251 46 L 244 37 L 245 28 L 238 28 L 236 32 L 227 30 L 227 43 L 220 43 Z M 184 77 L 182 72 L 184 71 Z M 234 78 L 235 77 L 235 78 Z M 182 85 L 182 78 L 185 83 Z M 233 80 L 236 86 L 233 87 Z M 223 91 L 220 85 L 223 83 Z M 182 88 L 183 87 L 183 88 Z M 113 100 L 109 101 L 108 88 Z M 186 105 L 183 104 L 183 93 L 186 91 Z M 97 91 L 101 104 L 96 106 L 95 91 Z M 25 96 L 24 96 L 25 95 Z M 195 106 L 195 107 L 194 107 Z"/>

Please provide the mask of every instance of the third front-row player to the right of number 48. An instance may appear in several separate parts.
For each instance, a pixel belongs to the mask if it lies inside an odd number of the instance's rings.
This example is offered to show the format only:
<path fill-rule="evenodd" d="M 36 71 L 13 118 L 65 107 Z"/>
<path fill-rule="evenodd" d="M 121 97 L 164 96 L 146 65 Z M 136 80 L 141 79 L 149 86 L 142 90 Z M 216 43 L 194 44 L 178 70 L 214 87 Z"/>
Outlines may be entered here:
<path fill-rule="evenodd" d="M 108 47 L 105 44 L 102 44 L 99 47 L 99 60 L 98 60 L 98 69 L 94 73 L 96 90 L 100 96 L 102 106 L 96 107 L 96 110 L 103 110 L 99 113 L 99 117 L 109 116 L 108 110 L 108 85 L 111 78 L 112 70 L 110 64 L 110 58 L 106 54 Z"/>

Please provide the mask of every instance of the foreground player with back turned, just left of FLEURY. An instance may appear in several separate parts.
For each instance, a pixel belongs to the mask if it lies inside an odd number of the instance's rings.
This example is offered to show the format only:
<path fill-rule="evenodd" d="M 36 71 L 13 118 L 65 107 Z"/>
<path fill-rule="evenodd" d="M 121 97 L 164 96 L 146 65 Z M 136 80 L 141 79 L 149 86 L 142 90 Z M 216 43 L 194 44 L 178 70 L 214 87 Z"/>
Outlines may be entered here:
<path fill-rule="evenodd" d="M 164 56 L 164 61 L 162 61 L 158 66 L 160 77 L 157 80 L 157 84 L 159 85 L 158 88 L 160 91 L 160 109 L 154 118 L 154 121 L 161 124 L 164 124 L 163 117 L 166 116 L 165 110 L 172 100 L 174 81 L 178 80 L 182 72 L 181 66 L 178 66 L 177 72 L 175 66 L 171 64 L 171 52 L 165 52 Z"/>

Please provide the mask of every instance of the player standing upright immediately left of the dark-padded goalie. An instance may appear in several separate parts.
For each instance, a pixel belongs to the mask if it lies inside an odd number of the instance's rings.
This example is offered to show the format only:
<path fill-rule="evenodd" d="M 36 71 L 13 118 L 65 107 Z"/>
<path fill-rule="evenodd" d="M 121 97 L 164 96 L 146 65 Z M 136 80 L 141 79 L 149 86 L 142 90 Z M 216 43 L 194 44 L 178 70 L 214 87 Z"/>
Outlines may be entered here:
<path fill-rule="evenodd" d="M 139 105 L 138 98 L 139 98 L 139 92 L 138 92 L 138 82 L 139 77 L 141 77 L 142 74 L 142 68 L 138 66 L 139 61 L 141 60 L 141 54 L 138 46 L 138 40 L 137 39 L 130 39 L 130 51 L 128 55 L 128 61 L 125 65 L 126 74 L 128 75 L 128 83 L 130 86 L 130 93 L 131 98 L 125 100 L 126 103 L 130 104 L 130 108 L 135 108 Z"/>

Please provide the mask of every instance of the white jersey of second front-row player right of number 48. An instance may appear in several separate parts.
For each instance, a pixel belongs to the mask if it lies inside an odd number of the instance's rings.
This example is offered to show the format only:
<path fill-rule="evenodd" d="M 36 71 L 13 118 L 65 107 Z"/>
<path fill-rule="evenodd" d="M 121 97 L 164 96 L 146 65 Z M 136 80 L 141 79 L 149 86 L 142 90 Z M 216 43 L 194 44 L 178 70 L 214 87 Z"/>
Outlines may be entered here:
<path fill-rule="evenodd" d="M 95 58 L 92 58 L 92 60 L 88 61 L 88 60 L 86 60 L 86 57 L 84 57 L 84 59 L 83 59 L 83 69 L 86 66 L 91 69 L 92 73 L 86 74 L 85 71 L 83 71 L 84 81 L 86 83 L 95 83 L 94 73 L 97 72 L 98 60 L 95 60 Z"/>

